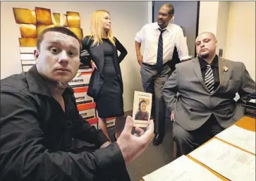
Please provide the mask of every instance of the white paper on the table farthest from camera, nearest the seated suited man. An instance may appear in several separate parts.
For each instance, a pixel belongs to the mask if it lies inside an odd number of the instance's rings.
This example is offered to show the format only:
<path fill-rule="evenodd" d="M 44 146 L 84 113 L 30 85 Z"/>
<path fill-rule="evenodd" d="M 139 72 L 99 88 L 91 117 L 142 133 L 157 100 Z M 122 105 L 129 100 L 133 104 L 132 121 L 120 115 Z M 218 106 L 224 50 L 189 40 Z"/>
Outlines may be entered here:
<path fill-rule="evenodd" d="M 232 125 L 216 137 L 255 154 L 255 132 Z"/>

